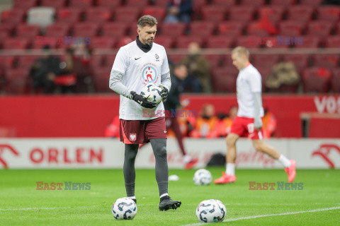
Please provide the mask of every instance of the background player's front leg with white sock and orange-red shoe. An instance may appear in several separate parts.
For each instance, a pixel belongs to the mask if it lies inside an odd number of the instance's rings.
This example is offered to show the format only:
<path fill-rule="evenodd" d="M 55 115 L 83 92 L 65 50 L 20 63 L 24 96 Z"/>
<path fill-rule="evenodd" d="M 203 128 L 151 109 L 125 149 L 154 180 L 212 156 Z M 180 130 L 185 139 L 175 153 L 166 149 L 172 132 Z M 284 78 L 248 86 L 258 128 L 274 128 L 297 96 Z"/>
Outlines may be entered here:
<path fill-rule="evenodd" d="M 215 179 L 215 184 L 227 184 L 236 181 L 235 177 L 235 160 L 236 160 L 236 141 L 239 135 L 229 133 L 227 136 L 227 170 L 222 172 L 222 177 Z"/>

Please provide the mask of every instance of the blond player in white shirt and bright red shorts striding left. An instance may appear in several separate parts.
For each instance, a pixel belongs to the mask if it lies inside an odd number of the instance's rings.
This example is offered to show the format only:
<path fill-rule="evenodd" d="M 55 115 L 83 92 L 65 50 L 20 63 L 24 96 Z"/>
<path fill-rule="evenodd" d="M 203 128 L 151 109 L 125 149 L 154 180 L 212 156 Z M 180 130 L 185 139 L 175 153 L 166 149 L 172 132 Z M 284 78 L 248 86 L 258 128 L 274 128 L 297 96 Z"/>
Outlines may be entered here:
<path fill-rule="evenodd" d="M 249 137 L 254 148 L 274 159 L 280 161 L 288 173 L 288 182 L 295 179 L 295 160 L 287 157 L 263 143 L 262 119 L 263 107 L 261 99 L 261 74 L 249 63 L 249 51 L 244 47 L 236 47 L 232 50 L 232 64 L 239 69 L 237 76 L 237 102 L 239 110 L 237 117 L 232 122 L 232 128 L 227 136 L 227 170 L 222 172 L 222 177 L 215 179 L 215 184 L 227 184 L 236 181 L 235 160 L 236 142 L 239 137 Z"/>

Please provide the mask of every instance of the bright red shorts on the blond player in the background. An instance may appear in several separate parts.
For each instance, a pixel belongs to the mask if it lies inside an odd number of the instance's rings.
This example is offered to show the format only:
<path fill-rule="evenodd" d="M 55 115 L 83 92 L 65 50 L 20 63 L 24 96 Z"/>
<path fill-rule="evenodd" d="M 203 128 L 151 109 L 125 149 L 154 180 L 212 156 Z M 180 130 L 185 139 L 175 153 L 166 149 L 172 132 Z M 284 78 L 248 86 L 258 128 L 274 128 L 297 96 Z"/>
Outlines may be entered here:
<path fill-rule="evenodd" d="M 249 137 L 251 140 L 262 139 L 262 129 L 257 131 L 254 127 L 254 119 L 245 117 L 236 117 L 232 121 L 230 133 L 236 133 L 240 137 Z"/>

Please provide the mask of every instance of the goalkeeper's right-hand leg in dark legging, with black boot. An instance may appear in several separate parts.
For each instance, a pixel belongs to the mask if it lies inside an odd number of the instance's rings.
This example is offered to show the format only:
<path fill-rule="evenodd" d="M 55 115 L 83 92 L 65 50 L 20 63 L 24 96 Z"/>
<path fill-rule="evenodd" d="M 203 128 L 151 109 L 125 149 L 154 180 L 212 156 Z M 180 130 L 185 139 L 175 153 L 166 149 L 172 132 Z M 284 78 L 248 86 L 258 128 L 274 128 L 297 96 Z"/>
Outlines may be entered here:
<path fill-rule="evenodd" d="M 169 169 L 166 160 L 166 138 L 150 139 L 154 158 L 156 160 L 155 172 L 159 189 L 159 210 L 176 209 L 181 206 L 181 201 L 173 201 L 168 194 Z"/>

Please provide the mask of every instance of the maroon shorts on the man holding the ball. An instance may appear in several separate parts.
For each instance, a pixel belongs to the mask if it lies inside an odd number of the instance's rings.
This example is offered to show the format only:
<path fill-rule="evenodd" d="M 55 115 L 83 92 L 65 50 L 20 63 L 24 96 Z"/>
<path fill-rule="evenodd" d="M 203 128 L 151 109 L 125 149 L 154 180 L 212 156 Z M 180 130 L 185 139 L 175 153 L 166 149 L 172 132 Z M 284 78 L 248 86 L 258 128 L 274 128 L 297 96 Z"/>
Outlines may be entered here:
<path fill-rule="evenodd" d="M 166 138 L 165 117 L 152 120 L 120 119 L 120 141 L 136 144 L 150 139 Z"/>

